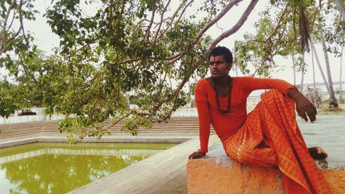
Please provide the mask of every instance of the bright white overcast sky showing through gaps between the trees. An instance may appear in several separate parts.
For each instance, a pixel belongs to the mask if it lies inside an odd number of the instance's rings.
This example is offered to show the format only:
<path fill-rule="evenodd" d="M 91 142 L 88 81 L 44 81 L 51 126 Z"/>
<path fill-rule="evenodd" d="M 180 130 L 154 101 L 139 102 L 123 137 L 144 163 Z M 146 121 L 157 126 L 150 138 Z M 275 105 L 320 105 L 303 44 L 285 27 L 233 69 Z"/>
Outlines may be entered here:
<path fill-rule="evenodd" d="M 43 0 L 43 1 L 34 1 L 34 6 L 37 10 L 39 10 L 40 14 L 37 14 L 36 21 L 30 21 L 26 23 L 26 29 L 30 30 L 32 33 L 34 33 L 34 37 L 37 39 L 37 45 L 41 50 L 46 51 L 46 54 L 52 54 L 52 48 L 59 46 L 59 38 L 57 35 L 53 34 L 50 30 L 50 27 L 46 23 L 46 19 L 43 17 L 40 17 L 39 15 L 44 14 L 46 8 L 50 5 L 50 0 Z M 81 1 L 83 2 L 83 1 Z M 242 13 L 248 6 L 249 1 L 243 1 L 242 3 L 239 3 L 239 6 L 234 6 L 226 16 L 224 16 L 221 21 L 219 21 L 218 27 L 215 25 L 213 28 L 209 30 L 207 33 L 213 39 L 215 39 L 217 36 L 221 34 L 221 29 L 224 28 L 225 30 L 228 30 L 231 28 L 241 17 Z M 259 1 L 257 3 L 257 6 L 255 6 L 255 9 L 251 14 L 249 15 L 247 21 L 244 23 L 244 26 L 240 28 L 235 34 L 231 35 L 227 39 L 224 39 L 219 43 L 221 46 L 226 46 L 228 48 L 233 48 L 235 40 L 243 40 L 243 35 L 245 32 L 255 32 L 254 23 L 258 19 L 258 13 L 264 10 L 265 4 L 268 3 L 268 1 Z M 95 6 L 92 7 L 86 7 L 86 12 L 94 12 L 97 10 Z M 324 66 L 324 55 L 322 52 L 321 45 L 315 46 L 318 52 L 319 60 L 322 64 L 322 68 L 324 70 L 324 73 L 326 74 L 326 68 Z M 333 81 L 339 81 L 339 69 L 340 69 L 340 58 L 335 58 L 331 53 L 328 53 L 328 56 L 330 57 L 330 63 L 331 63 L 331 73 L 332 73 L 332 79 Z M 308 65 L 307 72 L 304 75 L 304 83 L 313 83 L 313 70 L 312 70 L 312 58 L 311 58 L 311 52 L 307 53 L 305 55 L 305 61 Z M 323 82 L 321 73 L 319 72 L 319 69 L 317 68 L 316 60 L 315 61 L 315 81 L 317 82 Z M 344 60 L 343 60 L 344 61 Z M 273 78 L 279 78 L 284 79 L 291 84 L 293 84 L 293 69 L 292 66 L 292 59 L 284 59 L 283 57 L 277 57 L 276 63 L 280 66 L 285 66 L 284 70 L 281 70 L 279 72 L 272 73 Z M 344 68 L 344 62 L 342 64 Z M 0 74 L 3 74 L 4 71 L 0 70 Z M 342 80 L 344 80 L 344 74 L 342 76 Z M 230 72 L 230 75 L 235 76 L 235 71 Z M 239 73 L 239 76 L 241 74 Z M 297 72 L 296 74 L 296 84 L 299 84 L 301 81 L 301 73 Z"/>

